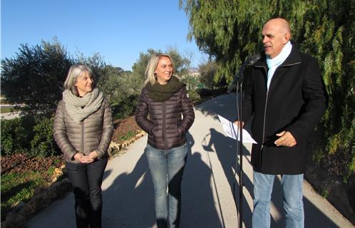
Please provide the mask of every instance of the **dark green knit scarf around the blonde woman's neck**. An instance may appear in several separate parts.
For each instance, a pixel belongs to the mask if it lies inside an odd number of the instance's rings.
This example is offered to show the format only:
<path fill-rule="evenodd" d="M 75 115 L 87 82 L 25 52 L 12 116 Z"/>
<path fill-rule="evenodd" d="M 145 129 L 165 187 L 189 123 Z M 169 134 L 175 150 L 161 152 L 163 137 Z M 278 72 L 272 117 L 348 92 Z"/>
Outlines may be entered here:
<path fill-rule="evenodd" d="M 165 85 L 160 85 L 158 82 L 152 85 L 148 82 L 145 88 L 147 88 L 150 98 L 154 101 L 162 102 L 171 98 L 182 86 L 185 86 L 185 84 L 180 82 L 178 77 L 171 76 L 170 80 Z"/>

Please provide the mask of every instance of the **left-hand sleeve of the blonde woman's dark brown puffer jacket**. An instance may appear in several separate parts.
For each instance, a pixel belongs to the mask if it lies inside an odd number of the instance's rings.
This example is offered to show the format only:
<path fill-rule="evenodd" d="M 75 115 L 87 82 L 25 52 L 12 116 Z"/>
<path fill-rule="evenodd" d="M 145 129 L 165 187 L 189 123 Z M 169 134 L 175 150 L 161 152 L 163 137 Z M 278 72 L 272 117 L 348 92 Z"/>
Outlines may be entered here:
<path fill-rule="evenodd" d="M 153 130 L 153 123 L 152 121 L 148 120 L 148 101 L 144 88 L 140 93 L 138 105 L 135 109 L 135 122 L 137 122 L 138 126 L 148 134 L 150 134 Z"/>

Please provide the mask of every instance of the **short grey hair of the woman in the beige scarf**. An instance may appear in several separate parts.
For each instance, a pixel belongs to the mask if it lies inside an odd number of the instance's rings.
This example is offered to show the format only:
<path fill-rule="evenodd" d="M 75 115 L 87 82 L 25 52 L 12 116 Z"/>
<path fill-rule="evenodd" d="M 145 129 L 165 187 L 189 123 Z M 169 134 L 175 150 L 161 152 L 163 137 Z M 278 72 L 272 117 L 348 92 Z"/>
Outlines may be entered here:
<path fill-rule="evenodd" d="M 81 73 L 86 72 L 91 76 L 91 80 L 93 81 L 92 86 L 96 88 L 96 78 L 93 75 L 93 71 L 90 67 L 85 65 L 73 65 L 69 69 L 68 76 L 66 76 L 66 81 L 64 82 L 64 89 L 71 90 L 71 92 L 75 95 L 78 95 L 78 90 L 76 89 L 76 80 L 78 76 L 81 76 Z"/>

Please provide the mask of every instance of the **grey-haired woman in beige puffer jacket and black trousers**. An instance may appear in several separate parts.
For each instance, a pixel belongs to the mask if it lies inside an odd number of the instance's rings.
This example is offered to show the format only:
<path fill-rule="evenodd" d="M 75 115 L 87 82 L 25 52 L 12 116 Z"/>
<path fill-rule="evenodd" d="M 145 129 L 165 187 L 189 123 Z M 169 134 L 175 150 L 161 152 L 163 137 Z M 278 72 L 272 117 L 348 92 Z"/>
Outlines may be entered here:
<path fill-rule="evenodd" d="M 76 226 L 101 227 L 101 183 L 113 134 L 110 106 L 87 66 L 72 66 L 64 88 L 53 135 L 74 188 Z"/>

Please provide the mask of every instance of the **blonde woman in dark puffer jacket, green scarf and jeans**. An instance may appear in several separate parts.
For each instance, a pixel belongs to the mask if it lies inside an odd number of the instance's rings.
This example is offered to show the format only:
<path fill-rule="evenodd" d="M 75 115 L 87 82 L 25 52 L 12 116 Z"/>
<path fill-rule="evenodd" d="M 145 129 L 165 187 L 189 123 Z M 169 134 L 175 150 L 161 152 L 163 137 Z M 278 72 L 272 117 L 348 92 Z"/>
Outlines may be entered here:
<path fill-rule="evenodd" d="M 153 179 L 157 225 L 170 228 L 180 224 L 181 182 L 187 157 L 185 134 L 195 120 L 185 84 L 173 73 L 170 56 L 153 55 L 135 111 L 135 120 L 148 133 L 145 154 Z"/>

